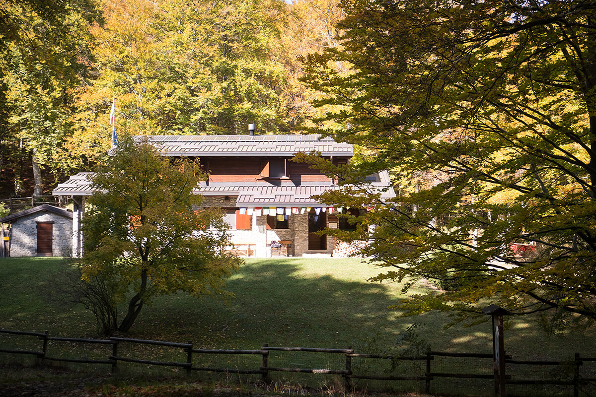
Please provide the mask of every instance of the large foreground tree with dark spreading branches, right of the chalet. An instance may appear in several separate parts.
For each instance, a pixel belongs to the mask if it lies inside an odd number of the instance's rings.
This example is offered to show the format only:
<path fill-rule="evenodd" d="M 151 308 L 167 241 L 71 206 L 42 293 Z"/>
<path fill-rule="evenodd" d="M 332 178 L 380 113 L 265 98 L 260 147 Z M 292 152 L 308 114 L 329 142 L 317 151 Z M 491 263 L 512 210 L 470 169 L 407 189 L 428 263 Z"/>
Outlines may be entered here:
<path fill-rule="evenodd" d="M 365 185 L 324 196 L 368 208 L 358 220 L 374 232 L 343 238 L 373 239 L 365 254 L 388 270 L 377 280 L 445 289 L 408 299 L 410 313 L 477 314 L 496 299 L 514 313 L 596 318 L 594 2 L 342 7 L 342 49 L 309 58 L 309 83 L 327 95 L 319 105 L 337 106 L 319 132 L 361 145 L 362 175 L 395 177 L 387 205 Z"/>

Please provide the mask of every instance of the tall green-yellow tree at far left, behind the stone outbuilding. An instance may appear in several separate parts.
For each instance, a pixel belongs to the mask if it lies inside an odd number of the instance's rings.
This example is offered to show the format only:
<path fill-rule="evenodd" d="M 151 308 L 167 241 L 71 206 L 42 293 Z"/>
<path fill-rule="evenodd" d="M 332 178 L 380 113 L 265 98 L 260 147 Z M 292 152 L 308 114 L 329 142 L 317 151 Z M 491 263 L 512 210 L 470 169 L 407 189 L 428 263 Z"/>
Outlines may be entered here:
<path fill-rule="evenodd" d="M 72 135 L 72 90 L 86 72 L 88 27 L 97 12 L 92 0 L 0 5 L 0 168 L 14 172 L 19 195 L 30 158 L 33 195 L 41 195 L 42 170 L 57 170 L 57 149 Z"/>

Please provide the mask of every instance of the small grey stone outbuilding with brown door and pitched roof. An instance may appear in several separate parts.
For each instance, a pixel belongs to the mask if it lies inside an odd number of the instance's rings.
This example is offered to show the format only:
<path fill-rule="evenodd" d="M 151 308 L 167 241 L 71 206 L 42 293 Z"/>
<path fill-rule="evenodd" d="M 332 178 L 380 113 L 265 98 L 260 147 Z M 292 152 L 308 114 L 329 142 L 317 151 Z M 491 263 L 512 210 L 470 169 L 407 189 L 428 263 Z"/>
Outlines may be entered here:
<path fill-rule="evenodd" d="M 64 257 L 72 254 L 73 213 L 48 204 L 0 218 L 8 223 L 10 257 Z"/>

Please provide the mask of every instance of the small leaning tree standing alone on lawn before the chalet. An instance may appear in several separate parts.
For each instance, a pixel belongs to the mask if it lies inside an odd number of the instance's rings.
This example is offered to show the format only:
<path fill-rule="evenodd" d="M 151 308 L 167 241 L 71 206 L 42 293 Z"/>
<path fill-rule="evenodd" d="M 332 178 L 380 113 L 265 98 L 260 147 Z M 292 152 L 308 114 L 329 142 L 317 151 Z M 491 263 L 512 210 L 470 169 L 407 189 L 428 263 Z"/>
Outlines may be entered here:
<path fill-rule="evenodd" d="M 100 298 L 108 291 L 114 306 L 124 305 L 117 330 L 131 329 L 158 295 L 225 293 L 224 280 L 240 260 L 224 252 L 221 211 L 194 210 L 201 202 L 194 189 L 203 177 L 197 163 L 170 161 L 150 143 L 128 139 L 92 177 L 82 279 L 101 287 Z"/>

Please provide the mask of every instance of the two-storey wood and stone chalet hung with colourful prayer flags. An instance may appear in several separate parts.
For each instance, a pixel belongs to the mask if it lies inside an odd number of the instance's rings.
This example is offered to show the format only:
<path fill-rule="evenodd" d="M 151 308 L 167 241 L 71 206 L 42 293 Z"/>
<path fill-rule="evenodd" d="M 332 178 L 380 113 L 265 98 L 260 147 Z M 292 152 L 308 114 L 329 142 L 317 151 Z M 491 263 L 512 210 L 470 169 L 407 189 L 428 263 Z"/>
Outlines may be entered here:
<path fill-rule="evenodd" d="M 139 137 L 138 139 L 141 139 Z M 293 162 L 297 152 L 318 151 L 334 164 L 346 164 L 352 145 L 318 135 L 149 136 L 148 140 L 172 157 L 197 157 L 209 178 L 195 191 L 204 207 L 224 211 L 237 254 L 250 257 L 275 255 L 332 256 L 332 237 L 318 236 L 325 227 L 347 227 L 337 211 L 312 196 L 337 189 L 336 182 L 308 164 Z M 92 194 L 89 173 L 79 173 L 54 189 L 54 195 L 72 196 L 73 255 L 80 254 L 85 197 Z M 370 177 L 383 198 L 395 197 L 387 172 Z M 281 247 L 272 247 L 280 242 Z M 274 243 L 274 245 L 276 245 Z M 344 250 L 345 251 L 345 250 Z"/>

